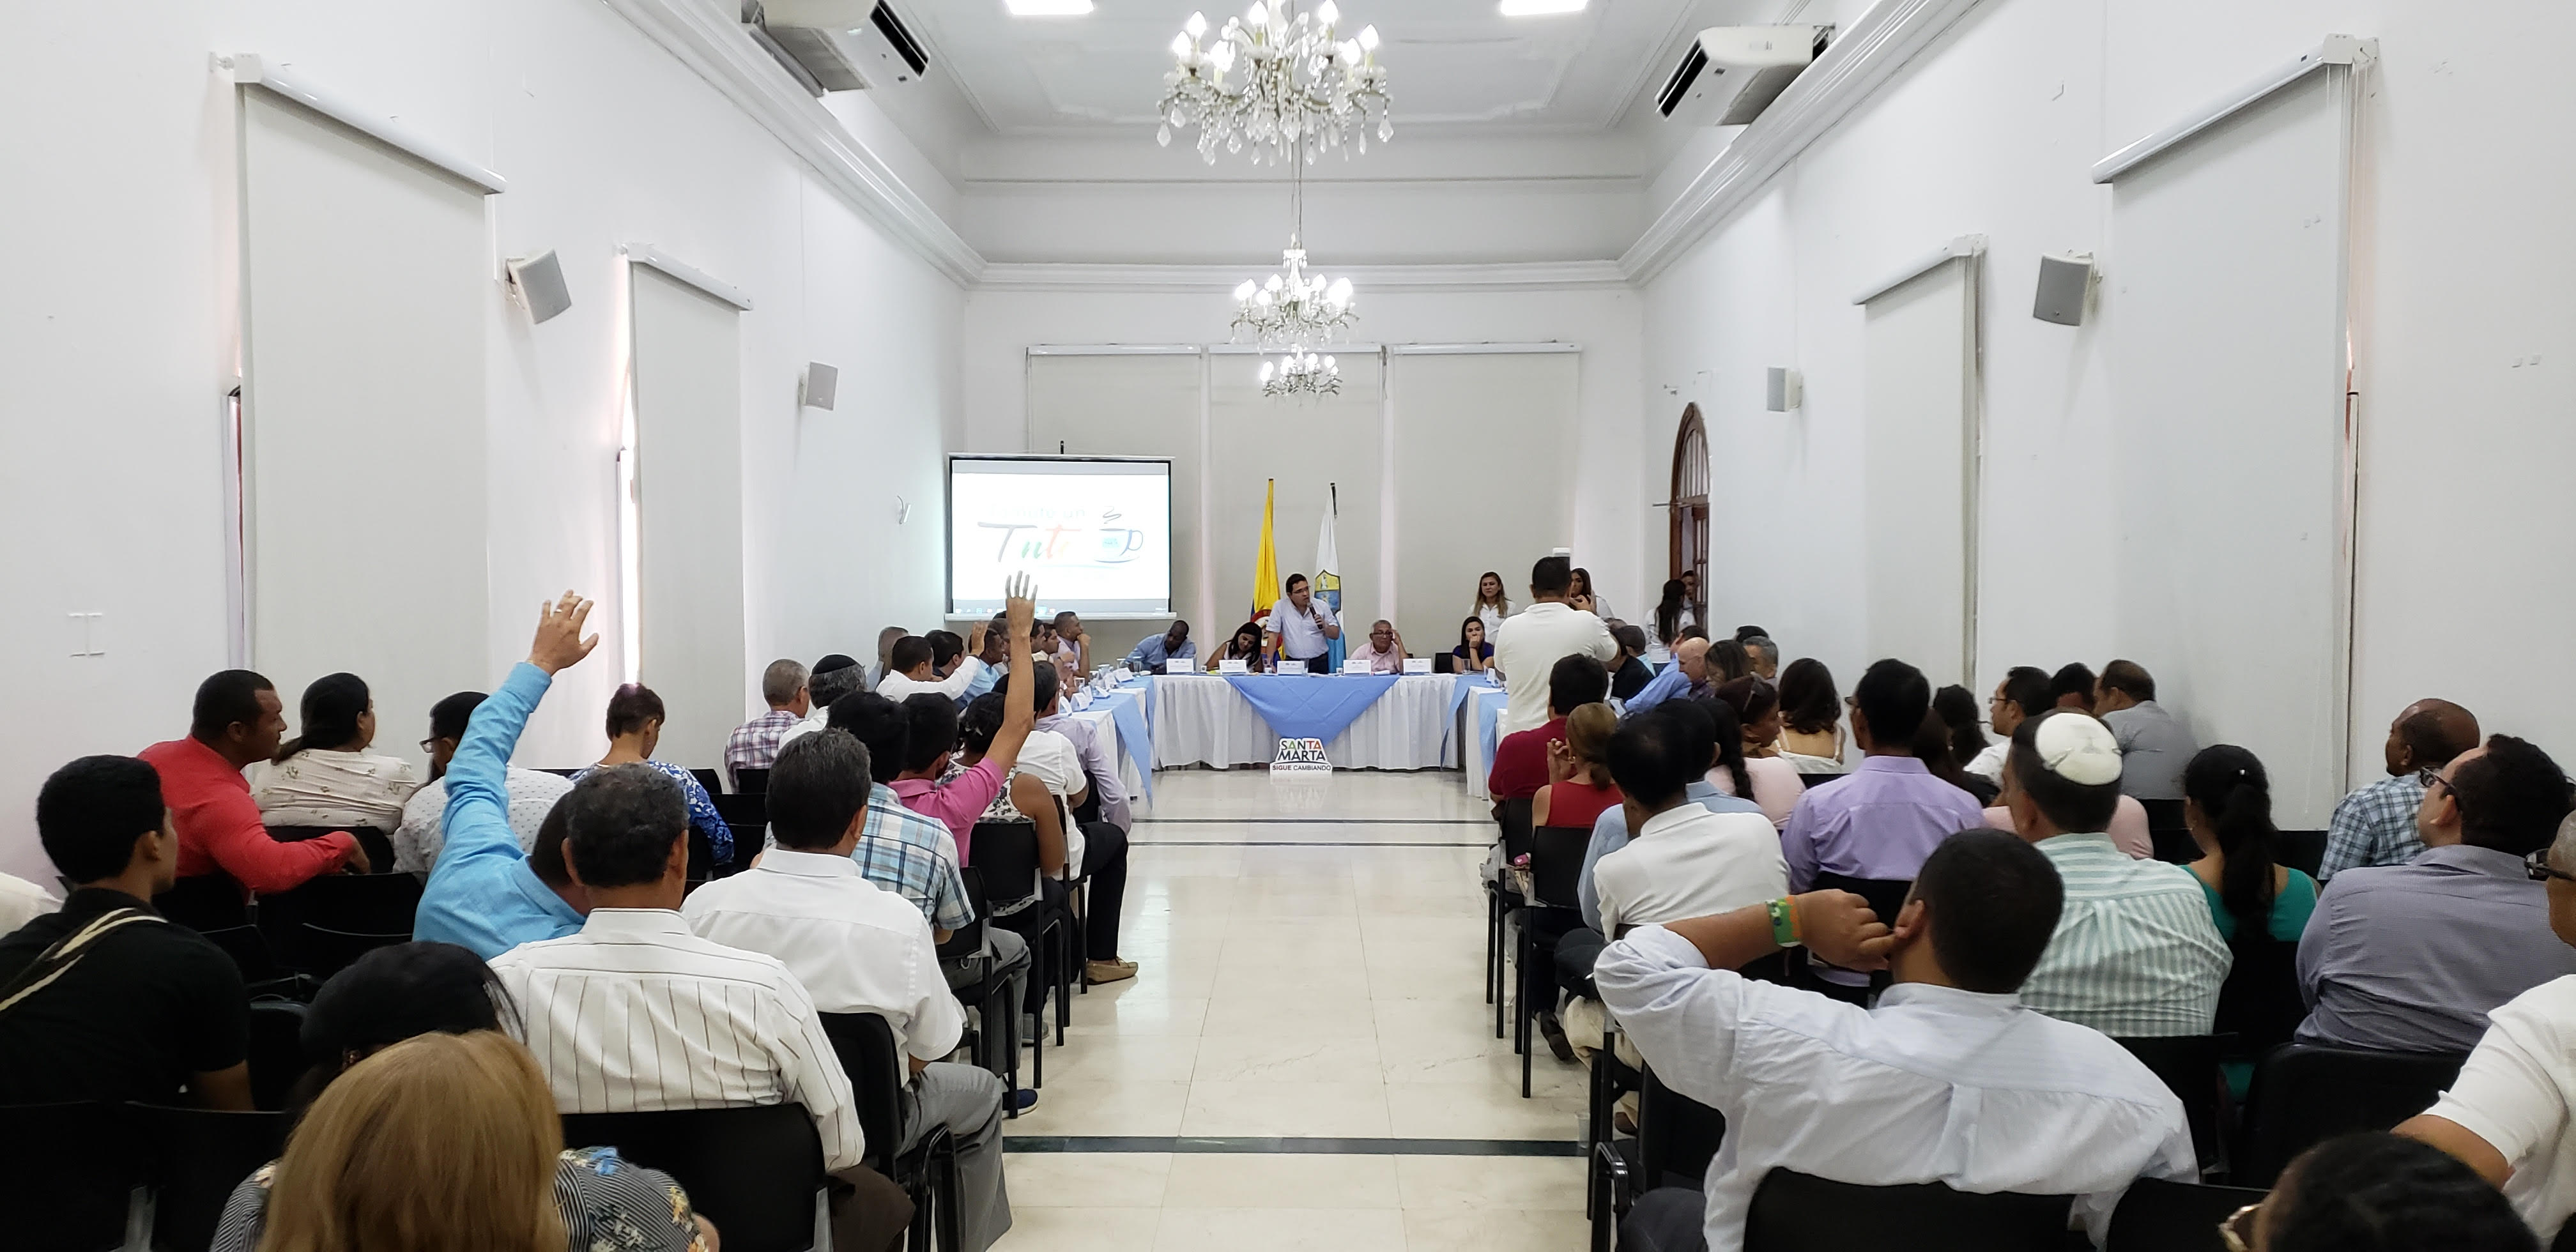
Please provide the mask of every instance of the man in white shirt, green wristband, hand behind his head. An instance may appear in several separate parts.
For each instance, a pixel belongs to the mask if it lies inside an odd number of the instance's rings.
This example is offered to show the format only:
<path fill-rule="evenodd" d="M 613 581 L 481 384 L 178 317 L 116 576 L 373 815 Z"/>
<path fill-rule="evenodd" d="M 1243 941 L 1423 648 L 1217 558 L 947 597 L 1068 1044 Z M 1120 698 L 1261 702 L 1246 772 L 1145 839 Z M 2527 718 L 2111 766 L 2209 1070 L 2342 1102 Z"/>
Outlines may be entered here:
<path fill-rule="evenodd" d="M 2058 904 L 2045 855 L 1971 830 L 1924 860 L 1893 930 L 1850 891 L 1808 891 L 1602 951 L 1595 982 L 1638 1054 L 1726 1115 L 1705 1190 L 1646 1193 L 1620 1247 L 1741 1249 L 1772 1170 L 2074 1195 L 2094 1244 L 2133 1180 L 2197 1180 L 2182 1100 L 2120 1043 L 2014 997 Z M 1801 943 L 1896 984 L 1862 1010 L 1736 974 Z"/>

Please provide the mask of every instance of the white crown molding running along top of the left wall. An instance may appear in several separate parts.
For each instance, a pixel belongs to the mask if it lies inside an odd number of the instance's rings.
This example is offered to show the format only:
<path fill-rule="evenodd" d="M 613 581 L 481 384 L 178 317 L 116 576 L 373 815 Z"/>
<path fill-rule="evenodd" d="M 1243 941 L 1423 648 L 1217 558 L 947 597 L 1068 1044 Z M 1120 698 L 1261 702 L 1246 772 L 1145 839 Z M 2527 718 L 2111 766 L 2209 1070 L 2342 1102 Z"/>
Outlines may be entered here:
<path fill-rule="evenodd" d="M 822 175 L 850 209 L 958 286 L 974 286 L 984 258 L 920 193 L 868 152 L 822 100 L 804 93 L 739 26 L 701 0 L 605 0 L 647 39 L 750 113 Z"/>

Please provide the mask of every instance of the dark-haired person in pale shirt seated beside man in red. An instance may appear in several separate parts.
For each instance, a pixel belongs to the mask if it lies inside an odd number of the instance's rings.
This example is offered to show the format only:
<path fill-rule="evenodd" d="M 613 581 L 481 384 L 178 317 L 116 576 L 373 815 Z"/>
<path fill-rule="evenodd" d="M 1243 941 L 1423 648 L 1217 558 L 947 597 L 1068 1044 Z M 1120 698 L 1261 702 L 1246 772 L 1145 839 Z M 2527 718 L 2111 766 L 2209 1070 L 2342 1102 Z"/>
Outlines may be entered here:
<path fill-rule="evenodd" d="M 368 752 L 376 698 L 358 675 L 322 675 L 296 708 L 304 734 L 278 747 L 250 801 L 270 827 L 374 827 L 392 835 L 420 778 L 412 763 Z"/>

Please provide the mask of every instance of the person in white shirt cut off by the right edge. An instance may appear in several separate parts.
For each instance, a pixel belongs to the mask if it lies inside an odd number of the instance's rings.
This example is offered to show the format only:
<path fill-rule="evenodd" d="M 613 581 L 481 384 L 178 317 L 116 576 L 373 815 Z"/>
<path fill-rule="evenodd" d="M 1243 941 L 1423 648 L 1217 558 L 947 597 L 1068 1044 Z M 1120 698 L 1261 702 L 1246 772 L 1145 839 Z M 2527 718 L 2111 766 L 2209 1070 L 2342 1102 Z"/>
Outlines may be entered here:
<path fill-rule="evenodd" d="M 2530 860 L 2530 876 L 2545 884 L 2550 933 L 2576 945 L 2576 817 Z M 2576 979 L 2543 982 L 2486 1020 L 2460 1077 L 2398 1133 L 2468 1162 L 2504 1188 L 2522 1221 L 2555 1239 L 2576 1216 Z"/>

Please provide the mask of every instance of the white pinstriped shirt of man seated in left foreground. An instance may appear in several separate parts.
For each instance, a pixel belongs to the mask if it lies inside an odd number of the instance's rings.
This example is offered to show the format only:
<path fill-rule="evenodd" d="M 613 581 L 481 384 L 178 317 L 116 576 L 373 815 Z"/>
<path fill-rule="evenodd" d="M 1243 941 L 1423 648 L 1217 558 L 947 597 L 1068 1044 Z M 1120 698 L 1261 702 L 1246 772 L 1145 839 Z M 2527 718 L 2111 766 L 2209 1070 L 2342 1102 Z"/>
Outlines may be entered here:
<path fill-rule="evenodd" d="M 775 956 L 703 940 L 670 909 L 590 909 L 580 935 L 520 943 L 492 974 L 564 1113 L 799 1103 L 824 1170 L 866 1154 L 814 997 Z"/>

